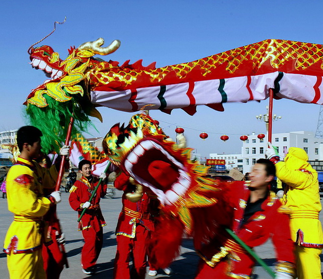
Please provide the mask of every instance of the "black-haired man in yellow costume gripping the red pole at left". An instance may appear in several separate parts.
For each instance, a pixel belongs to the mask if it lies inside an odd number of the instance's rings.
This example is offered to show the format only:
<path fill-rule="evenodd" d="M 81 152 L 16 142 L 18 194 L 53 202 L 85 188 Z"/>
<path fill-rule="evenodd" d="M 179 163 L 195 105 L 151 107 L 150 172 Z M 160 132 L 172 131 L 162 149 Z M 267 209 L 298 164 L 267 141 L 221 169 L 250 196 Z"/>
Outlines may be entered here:
<path fill-rule="evenodd" d="M 7 176 L 8 209 L 15 216 L 4 242 L 11 278 L 46 278 L 41 250 L 46 229 L 43 216 L 61 201 L 61 194 L 43 195 L 44 185 L 56 180 L 58 166 L 46 169 L 34 161 L 40 155 L 41 136 L 33 126 L 18 130 L 21 154 Z M 68 154 L 68 149 L 63 146 L 60 154 Z"/>

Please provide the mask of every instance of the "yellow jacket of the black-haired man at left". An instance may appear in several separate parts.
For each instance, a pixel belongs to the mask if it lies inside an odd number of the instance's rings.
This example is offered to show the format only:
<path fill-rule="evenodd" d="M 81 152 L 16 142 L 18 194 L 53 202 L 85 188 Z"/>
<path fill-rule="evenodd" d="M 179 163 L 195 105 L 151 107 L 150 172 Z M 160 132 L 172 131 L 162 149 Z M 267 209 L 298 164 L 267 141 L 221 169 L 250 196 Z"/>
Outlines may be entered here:
<path fill-rule="evenodd" d="M 43 185 L 57 177 L 55 166 L 41 167 L 35 161 L 18 158 L 7 175 L 8 209 L 14 213 L 5 242 L 6 253 L 28 253 L 40 249 L 44 239 L 42 216 L 50 208 L 43 196 Z"/>

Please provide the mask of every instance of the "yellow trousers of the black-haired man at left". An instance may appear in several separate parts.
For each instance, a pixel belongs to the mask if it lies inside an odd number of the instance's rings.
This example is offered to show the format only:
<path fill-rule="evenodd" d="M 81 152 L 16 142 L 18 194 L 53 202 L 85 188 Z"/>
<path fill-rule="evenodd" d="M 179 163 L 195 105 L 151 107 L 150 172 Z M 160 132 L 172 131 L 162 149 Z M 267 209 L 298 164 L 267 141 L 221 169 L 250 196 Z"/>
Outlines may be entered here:
<path fill-rule="evenodd" d="M 46 279 L 42 249 L 26 254 L 7 255 L 10 279 Z"/>

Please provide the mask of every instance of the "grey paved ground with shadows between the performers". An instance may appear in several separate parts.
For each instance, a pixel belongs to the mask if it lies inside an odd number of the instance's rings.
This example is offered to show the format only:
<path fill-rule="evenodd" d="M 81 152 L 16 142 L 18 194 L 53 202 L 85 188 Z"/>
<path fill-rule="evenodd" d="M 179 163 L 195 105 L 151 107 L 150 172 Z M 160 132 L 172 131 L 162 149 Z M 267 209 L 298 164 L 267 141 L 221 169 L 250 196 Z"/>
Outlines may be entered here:
<path fill-rule="evenodd" d="M 104 227 L 104 242 L 98 259 L 98 273 L 89 276 L 81 271 L 80 266 L 80 253 L 83 246 L 83 240 L 81 232 L 77 231 L 77 213 L 73 211 L 68 204 L 68 193 L 62 192 L 62 202 L 58 205 L 58 217 L 61 220 L 61 225 L 67 239 L 65 249 L 67 251 L 70 268 L 63 270 L 61 278 L 112 278 L 113 261 L 116 250 L 114 228 L 121 209 L 121 192 L 116 190 L 115 198 L 103 199 L 101 201 L 101 209 L 108 225 Z M 7 208 L 7 199 L 0 198 L 0 212 L 2 212 L 0 215 L 0 243 L 3 243 L 6 231 L 13 220 L 13 215 Z M 320 215 L 322 216 L 322 214 Z M 323 221 L 322 217 L 320 217 L 320 219 Z M 270 242 L 257 247 L 256 252 L 269 266 L 273 265 L 275 255 Z M 184 239 L 181 255 L 171 265 L 174 273 L 166 275 L 163 271 L 159 270 L 157 276 L 151 277 L 146 275 L 146 278 L 194 278 L 198 260 L 199 257 L 194 252 L 192 241 L 190 239 Z M 0 253 L 0 274 L 2 279 L 9 278 L 6 255 L 3 252 Z M 267 279 L 271 277 L 261 266 L 256 266 L 254 278 Z"/>

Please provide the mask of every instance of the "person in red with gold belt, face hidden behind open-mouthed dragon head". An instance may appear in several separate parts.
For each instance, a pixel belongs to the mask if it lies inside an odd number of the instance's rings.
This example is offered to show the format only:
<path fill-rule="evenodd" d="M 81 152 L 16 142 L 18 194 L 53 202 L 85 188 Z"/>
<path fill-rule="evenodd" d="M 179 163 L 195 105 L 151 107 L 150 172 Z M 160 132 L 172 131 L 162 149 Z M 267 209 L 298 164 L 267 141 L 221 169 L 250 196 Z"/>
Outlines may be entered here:
<path fill-rule="evenodd" d="M 136 187 L 135 182 L 123 172 L 115 179 L 114 186 L 119 190 L 123 190 L 124 193 L 122 195 L 122 210 L 115 230 L 117 251 L 114 260 L 113 278 L 144 279 L 147 261 L 146 244 L 149 231 L 153 229 L 153 223 L 148 212 L 149 197 L 144 192 L 132 194 Z M 133 267 L 130 271 L 131 252 L 133 255 Z"/>

